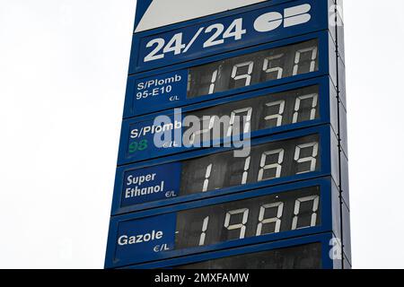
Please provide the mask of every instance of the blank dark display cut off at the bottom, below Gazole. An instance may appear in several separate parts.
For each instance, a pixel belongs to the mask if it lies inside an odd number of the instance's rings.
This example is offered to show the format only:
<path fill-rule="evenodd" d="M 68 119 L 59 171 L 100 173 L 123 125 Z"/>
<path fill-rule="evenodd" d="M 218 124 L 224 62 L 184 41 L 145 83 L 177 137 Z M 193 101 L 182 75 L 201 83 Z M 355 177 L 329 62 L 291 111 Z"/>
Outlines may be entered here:
<path fill-rule="evenodd" d="M 321 243 L 207 260 L 174 269 L 320 269 Z"/>

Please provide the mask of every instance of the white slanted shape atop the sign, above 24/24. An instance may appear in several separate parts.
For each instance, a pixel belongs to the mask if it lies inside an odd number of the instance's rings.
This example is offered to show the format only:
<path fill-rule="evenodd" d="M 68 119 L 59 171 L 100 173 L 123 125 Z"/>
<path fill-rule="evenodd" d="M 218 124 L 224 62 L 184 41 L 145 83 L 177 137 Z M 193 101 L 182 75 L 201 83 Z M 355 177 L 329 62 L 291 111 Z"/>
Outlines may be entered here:
<path fill-rule="evenodd" d="M 265 1 L 267 0 L 153 0 L 135 31 L 151 30 Z"/>

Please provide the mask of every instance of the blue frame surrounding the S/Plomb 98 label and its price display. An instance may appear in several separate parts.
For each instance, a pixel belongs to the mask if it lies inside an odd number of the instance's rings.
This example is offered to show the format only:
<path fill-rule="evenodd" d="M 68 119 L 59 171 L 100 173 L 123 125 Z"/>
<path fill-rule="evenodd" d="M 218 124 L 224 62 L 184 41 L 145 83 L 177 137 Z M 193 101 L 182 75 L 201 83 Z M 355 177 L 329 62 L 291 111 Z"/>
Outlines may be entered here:
<path fill-rule="evenodd" d="M 183 115 L 185 115 L 187 113 L 191 114 L 192 111 L 196 111 L 198 109 L 207 109 L 207 108 L 216 107 L 218 105 L 226 104 L 226 103 L 233 102 L 233 101 L 246 100 L 246 99 L 270 95 L 270 94 L 274 94 L 274 93 L 278 93 L 278 92 L 293 91 L 293 90 L 297 90 L 297 89 L 301 89 L 301 88 L 309 87 L 309 86 L 313 86 L 313 85 L 319 86 L 320 118 L 314 119 L 314 120 L 308 120 L 308 121 L 304 121 L 304 122 L 296 123 L 296 124 L 261 129 L 261 130 L 252 132 L 250 134 L 250 137 L 255 138 L 255 137 L 259 137 L 259 136 L 263 136 L 263 135 L 275 135 L 277 133 L 290 131 L 292 129 L 298 129 L 298 128 L 309 127 L 309 126 L 319 126 L 319 125 L 325 125 L 325 124 L 331 124 L 331 126 L 333 127 L 333 130 L 338 131 L 337 91 L 335 90 L 335 87 L 333 86 L 333 84 L 330 83 L 329 76 L 322 76 L 320 78 L 314 78 L 314 79 L 307 80 L 307 81 L 290 83 L 288 85 L 278 86 L 275 88 L 268 88 L 268 89 L 259 90 L 259 91 L 250 91 L 248 93 L 243 93 L 243 94 L 232 96 L 232 97 L 226 98 L 226 99 L 217 99 L 217 100 L 212 100 L 209 102 L 202 102 L 199 104 L 188 106 L 181 110 L 182 110 Z M 170 154 L 175 154 L 175 153 L 180 153 L 180 152 L 189 152 L 192 150 L 200 149 L 200 148 L 196 148 L 196 147 L 184 147 L 184 146 L 171 147 L 171 148 L 157 148 L 154 146 L 154 144 L 150 143 L 148 148 L 145 151 L 135 152 L 133 154 L 130 154 L 128 152 L 128 145 L 131 143 L 130 131 L 134 128 L 133 126 L 138 127 L 138 126 L 141 126 L 142 123 L 144 123 L 144 126 L 153 126 L 154 118 L 158 117 L 158 116 L 171 117 L 171 121 L 174 122 L 173 110 L 166 111 L 165 113 L 154 113 L 154 114 L 149 114 L 149 115 L 143 116 L 143 117 L 130 118 L 130 119 L 126 119 L 122 122 L 120 142 L 119 142 L 119 159 L 118 159 L 119 165 L 124 165 L 124 164 L 128 164 L 128 163 L 133 163 L 136 161 L 144 161 L 144 160 L 149 160 L 149 159 L 166 156 L 166 155 L 170 155 Z M 176 119 L 179 119 L 180 121 L 182 121 L 183 118 L 178 116 L 178 118 L 176 118 Z M 181 128 L 180 129 L 181 135 L 182 135 L 183 131 L 184 131 L 184 129 Z M 138 142 L 138 141 L 141 141 L 146 138 L 148 140 L 151 140 L 151 138 L 153 138 L 153 135 L 149 135 L 148 137 L 144 136 L 141 138 L 137 138 L 136 141 Z M 231 143 L 231 141 L 232 141 L 232 138 L 227 137 L 227 138 L 223 138 L 221 140 L 216 140 L 215 143 L 218 143 L 218 142 Z M 201 146 L 212 146 L 212 143 L 207 143 L 207 144 L 201 143 Z"/>

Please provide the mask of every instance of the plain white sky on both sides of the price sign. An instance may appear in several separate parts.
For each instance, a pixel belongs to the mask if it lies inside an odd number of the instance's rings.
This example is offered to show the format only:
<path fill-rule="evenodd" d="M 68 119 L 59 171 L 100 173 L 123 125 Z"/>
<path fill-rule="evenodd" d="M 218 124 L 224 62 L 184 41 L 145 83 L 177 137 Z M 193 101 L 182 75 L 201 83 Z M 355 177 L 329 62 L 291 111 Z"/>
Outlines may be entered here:
<path fill-rule="evenodd" d="M 101 268 L 135 0 L 0 0 L 0 267 Z M 353 260 L 404 267 L 404 2 L 345 1 Z"/>

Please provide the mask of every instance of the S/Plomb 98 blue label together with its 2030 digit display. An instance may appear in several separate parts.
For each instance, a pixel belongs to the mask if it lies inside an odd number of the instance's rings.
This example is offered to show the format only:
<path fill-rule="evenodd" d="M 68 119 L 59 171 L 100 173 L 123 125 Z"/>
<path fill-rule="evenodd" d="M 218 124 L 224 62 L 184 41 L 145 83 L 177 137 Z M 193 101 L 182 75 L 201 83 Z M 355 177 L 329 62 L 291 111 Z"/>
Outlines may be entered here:
<path fill-rule="evenodd" d="M 192 147 L 210 146 L 212 141 L 239 140 L 238 135 L 245 133 L 309 123 L 320 118 L 320 101 L 319 86 L 313 85 L 170 115 L 170 122 L 160 125 L 155 125 L 155 116 L 143 121 L 127 120 L 122 129 L 119 162 L 189 151 Z M 180 131 L 180 142 L 172 140 L 176 130 Z M 164 138 L 161 146 L 155 146 L 154 138 L 161 139 L 166 133 L 171 136 Z"/>

